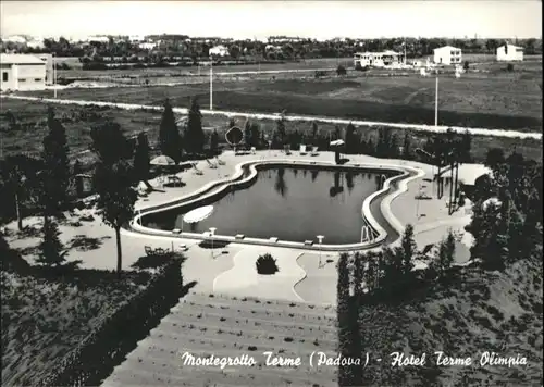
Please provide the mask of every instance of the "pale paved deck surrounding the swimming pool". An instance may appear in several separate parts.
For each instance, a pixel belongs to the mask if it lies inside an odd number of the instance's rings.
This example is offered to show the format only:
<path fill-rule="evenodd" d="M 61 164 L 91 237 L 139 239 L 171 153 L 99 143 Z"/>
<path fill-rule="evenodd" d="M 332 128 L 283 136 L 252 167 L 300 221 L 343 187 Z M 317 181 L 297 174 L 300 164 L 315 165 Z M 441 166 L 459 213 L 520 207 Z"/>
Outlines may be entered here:
<path fill-rule="evenodd" d="M 203 185 L 217 180 L 218 178 L 231 176 L 235 171 L 235 165 L 242 162 L 262 159 L 301 159 L 298 152 L 285 155 L 281 151 L 259 151 L 257 154 L 234 155 L 232 151 L 224 152 L 221 160 L 225 165 L 219 165 L 217 170 L 210 168 L 206 161 L 198 162 L 198 167 L 203 172 L 202 175 L 196 175 L 191 170 L 177 174 L 185 184 L 183 187 L 162 188 L 163 191 L 153 191 L 147 198 L 138 199 L 136 209 L 168 203 L 182 196 L 188 195 L 201 188 Z M 308 157 L 305 157 L 308 158 Z M 433 167 L 426 164 L 403 161 L 376 159 L 368 155 L 348 155 L 349 164 L 397 164 L 416 166 L 425 172 L 425 177 L 432 178 Z M 333 152 L 320 152 L 312 160 L 332 162 Z M 434 171 L 435 172 L 435 171 Z M 447 214 L 447 192 L 442 200 L 433 197 L 433 184 L 424 182 L 423 178 L 416 179 L 408 184 L 408 191 L 398 196 L 391 204 L 393 214 L 403 224 L 412 224 L 415 226 L 416 241 L 419 248 L 425 245 L 438 242 L 445 237 L 447 230 L 462 230 L 470 222 L 470 215 L 466 214 L 465 209 L 460 209 L 453 215 Z M 462 176 L 460 176 L 462 178 Z M 156 180 L 151 185 L 160 188 Z M 421 188 L 423 186 L 423 188 Z M 420 191 L 426 192 L 433 197 L 431 200 L 418 200 L 415 196 Z M 361 199 L 362 200 L 362 199 Z M 24 224 L 39 224 L 40 217 L 25 219 Z M 8 227 L 16 229 L 15 223 Z M 69 244 L 76 236 L 85 238 L 96 238 L 98 248 L 86 251 L 72 250 L 69 260 L 82 260 L 82 267 L 114 270 L 116 266 L 115 237 L 112 228 L 104 225 L 99 216 L 91 222 L 82 222 L 82 226 L 73 227 L 66 224 L 60 225 L 61 240 Z M 221 233 L 220 229 L 217 232 Z M 326 238 L 326 236 L 325 236 Z M 469 240 L 470 238 L 465 238 Z M 33 257 L 34 247 L 39 244 L 38 238 L 16 239 L 9 237 L 8 240 L 13 248 L 26 249 L 24 255 L 28 259 Z M 146 236 L 122 230 L 123 249 L 123 269 L 129 270 L 131 265 L 145 255 L 145 246 L 151 248 L 171 248 L 175 249 L 181 244 L 186 244 L 189 249 L 185 252 L 187 260 L 183 265 L 182 272 L 184 283 L 197 282 L 193 288 L 195 291 L 218 292 L 235 296 L 257 296 L 263 298 L 281 298 L 293 301 L 311 301 L 330 303 L 336 292 L 336 270 L 334 262 L 325 267 L 318 269 L 319 254 L 316 251 L 304 251 L 300 249 L 262 247 L 242 244 L 230 244 L 224 248 L 215 248 L 213 251 L 198 247 L 198 241 L 190 239 Z M 276 275 L 258 276 L 255 269 L 255 260 L 259 254 L 270 252 L 280 266 L 280 273 Z M 323 254 L 323 259 L 336 260 L 337 254 Z M 458 262 L 463 263 L 463 262 Z M 313 265 L 316 267 L 313 267 Z M 296 289 L 299 289 L 296 290 Z M 300 290 L 301 289 L 301 290 Z M 309 291 L 308 289 L 313 289 Z M 323 295 L 320 300 L 320 296 Z M 311 298 L 309 300 L 308 298 Z"/>

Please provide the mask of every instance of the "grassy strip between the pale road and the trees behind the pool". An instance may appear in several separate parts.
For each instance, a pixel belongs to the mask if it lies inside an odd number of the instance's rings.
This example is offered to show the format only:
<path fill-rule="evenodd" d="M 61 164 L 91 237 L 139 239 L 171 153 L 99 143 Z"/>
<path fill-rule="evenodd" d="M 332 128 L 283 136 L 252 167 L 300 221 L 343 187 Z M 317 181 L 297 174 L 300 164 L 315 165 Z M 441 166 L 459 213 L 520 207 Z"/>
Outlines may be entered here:
<path fill-rule="evenodd" d="M 159 100 L 158 100 L 159 102 Z M 79 158 L 82 162 L 91 161 L 92 153 L 86 152 L 90 145 L 90 127 L 100 120 L 110 118 L 118 122 L 128 136 L 135 136 L 139 132 L 147 132 L 151 145 L 157 143 L 159 136 L 159 124 L 161 112 L 144 110 L 122 110 L 112 108 L 79 107 L 71 104 L 54 105 L 57 116 L 62 118 L 66 128 L 67 141 L 72 158 Z M 0 116 L 0 140 L 3 155 L 20 152 L 39 153 L 41 141 L 47 132 L 46 116 L 47 105 L 45 103 L 2 99 L 2 113 L 11 111 L 18 125 L 13 127 L 8 117 Z M 238 125 L 244 125 L 246 118 L 235 118 Z M 272 120 L 251 120 L 257 122 L 260 129 L 271 135 L 275 129 L 275 122 Z M 215 127 L 220 134 L 220 143 L 226 146 L 224 133 L 226 132 L 228 121 L 222 116 L 207 115 L 203 117 L 205 127 Z M 287 123 L 287 132 L 298 130 L 299 133 L 309 133 L 311 125 L 306 122 Z M 325 135 L 335 129 L 333 124 L 319 124 L 319 130 Z M 404 136 L 403 130 L 398 132 Z M 376 132 L 370 127 L 358 128 L 358 133 L 363 137 L 373 137 L 375 142 Z M 429 134 L 413 132 L 412 143 L 421 146 Z M 504 137 L 472 136 L 472 157 L 475 161 L 482 161 L 485 158 L 487 149 L 503 148 L 514 149 L 521 152 L 526 158 L 533 160 L 542 159 L 542 142 L 534 139 L 516 139 Z"/>

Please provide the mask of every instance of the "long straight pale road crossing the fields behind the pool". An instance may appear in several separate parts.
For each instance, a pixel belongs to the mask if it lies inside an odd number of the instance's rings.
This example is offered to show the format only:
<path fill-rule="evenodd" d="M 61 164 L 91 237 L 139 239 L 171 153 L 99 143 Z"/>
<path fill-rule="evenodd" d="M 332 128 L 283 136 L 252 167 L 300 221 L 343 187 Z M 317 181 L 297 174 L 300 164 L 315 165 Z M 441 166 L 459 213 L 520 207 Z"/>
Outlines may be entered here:
<path fill-rule="evenodd" d="M 95 104 L 98 107 L 109 107 L 118 108 L 124 110 L 136 110 L 136 109 L 149 109 L 162 111 L 163 107 L 154 105 L 144 105 L 144 104 L 132 104 L 132 103 L 113 103 L 103 101 L 85 101 L 85 100 L 65 100 L 65 99 L 48 99 L 38 97 L 26 97 L 26 96 L 7 96 L 1 95 L 1 98 L 20 99 L 26 101 L 37 101 L 44 103 L 58 103 L 58 104 L 78 104 L 78 105 L 89 105 Z M 185 108 L 173 108 L 175 113 L 187 114 L 188 109 Z M 280 120 L 280 114 L 270 113 L 244 113 L 244 112 L 228 112 L 222 110 L 201 110 L 203 115 L 224 115 L 224 116 L 243 116 L 248 118 L 257 120 Z M 474 127 L 459 127 L 459 126 L 431 126 L 431 125 L 416 125 L 416 124 L 404 124 L 404 123 L 387 123 L 387 122 L 374 122 L 374 121 L 358 121 L 358 120 L 344 120 L 344 118 L 332 118 L 332 117 L 320 117 L 311 115 L 287 115 L 286 121 L 306 121 L 306 122 L 321 122 L 329 124 L 339 124 L 348 125 L 354 124 L 356 126 L 388 126 L 392 128 L 399 129 L 412 129 L 418 132 L 433 132 L 433 133 L 446 133 L 448 128 L 457 133 L 465 133 L 468 130 L 472 135 L 480 136 L 492 136 L 492 137 L 508 137 L 508 138 L 533 138 L 541 140 L 542 133 L 524 133 L 518 130 L 503 130 L 503 129 L 485 129 L 485 128 L 474 128 Z"/>

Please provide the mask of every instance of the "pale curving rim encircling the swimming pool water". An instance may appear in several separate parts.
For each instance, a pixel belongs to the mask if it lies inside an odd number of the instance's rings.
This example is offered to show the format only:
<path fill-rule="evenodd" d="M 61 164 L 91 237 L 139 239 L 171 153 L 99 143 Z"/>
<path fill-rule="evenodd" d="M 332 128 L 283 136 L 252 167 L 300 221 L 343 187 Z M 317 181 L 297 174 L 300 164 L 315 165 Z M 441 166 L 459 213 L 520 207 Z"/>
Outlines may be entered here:
<path fill-rule="evenodd" d="M 397 232 L 397 238 L 390 244 L 396 245 L 400 240 L 400 235 L 404 233 L 404 226 L 395 217 L 393 212 L 391 211 L 391 203 L 395 200 L 399 195 L 406 192 L 408 190 L 408 183 L 420 178 L 425 175 L 424 171 L 418 167 L 399 165 L 399 164 L 382 164 L 382 163 L 354 163 L 354 164 L 345 164 L 345 165 L 336 165 L 333 162 L 325 161 L 312 161 L 312 160 L 288 160 L 288 159 L 270 159 L 270 160 L 252 160 L 242 162 L 235 165 L 235 172 L 231 177 L 217 179 L 210 182 L 202 186 L 200 189 L 193 191 L 188 195 L 183 196 L 180 199 L 172 200 L 168 203 L 161 203 L 157 205 L 149 205 L 144 209 L 138 210 L 138 214 L 133 219 L 129 224 L 128 232 L 133 235 L 147 235 L 154 236 L 164 239 L 199 239 L 205 240 L 208 239 L 203 234 L 196 233 L 183 233 L 183 234 L 173 234 L 173 230 L 161 230 L 150 227 L 145 227 L 140 224 L 140 220 L 143 216 L 148 214 L 162 212 L 166 210 L 171 210 L 174 208 L 178 208 L 182 205 L 190 205 L 195 202 L 209 199 L 212 196 L 221 195 L 225 189 L 228 189 L 233 186 L 238 186 L 243 184 L 248 184 L 257 178 L 258 168 L 264 165 L 285 165 L 285 166 L 294 166 L 294 165 L 305 165 L 305 166 L 326 166 L 326 167 L 343 167 L 343 168 L 354 168 L 354 170 L 382 170 L 388 172 L 400 172 L 400 175 L 392 176 L 385 179 L 382 188 L 378 191 L 374 191 L 370 196 L 368 196 L 362 202 L 361 215 L 367 219 L 369 224 L 376 230 L 378 237 L 375 237 L 371 241 L 366 241 L 362 244 L 347 244 L 347 245 L 312 245 L 308 246 L 304 242 L 295 242 L 288 240 L 277 240 L 273 241 L 270 239 L 262 238 L 244 238 L 236 239 L 234 236 L 226 235 L 214 235 L 213 240 L 224 241 L 224 242 L 233 242 L 240 245 L 259 245 L 259 246 L 268 246 L 268 247 L 284 247 L 284 248 L 295 248 L 295 249 L 304 249 L 304 250 L 323 250 L 323 251 L 353 251 L 353 250 L 369 250 L 381 247 L 384 240 L 387 237 L 387 233 L 380 225 L 380 223 L 374 219 L 372 212 L 370 211 L 370 203 L 381 198 L 382 201 L 380 203 L 380 210 L 383 214 L 385 221 Z M 244 178 L 244 168 L 249 167 L 250 174 Z M 397 189 L 390 191 L 392 188 L 392 184 L 397 182 Z M 219 189 L 217 189 L 219 188 Z M 215 189 L 215 190 L 214 190 Z M 273 236 L 271 236 L 272 238 Z"/>

